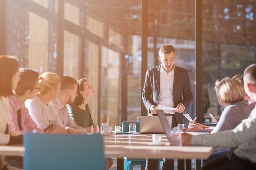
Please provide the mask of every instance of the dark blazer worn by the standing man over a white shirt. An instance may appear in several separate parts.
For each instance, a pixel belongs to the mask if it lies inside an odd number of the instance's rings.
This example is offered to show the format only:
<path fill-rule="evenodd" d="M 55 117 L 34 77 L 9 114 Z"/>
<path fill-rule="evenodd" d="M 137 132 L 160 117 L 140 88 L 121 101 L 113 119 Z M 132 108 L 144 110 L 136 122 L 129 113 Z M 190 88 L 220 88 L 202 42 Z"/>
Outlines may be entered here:
<path fill-rule="evenodd" d="M 143 103 L 150 113 L 150 106 L 157 106 L 160 97 L 160 66 L 149 68 L 146 72 L 144 87 L 142 91 Z M 190 80 L 188 70 L 175 66 L 174 68 L 174 83 L 173 83 L 173 102 L 174 107 L 182 103 L 185 109 L 190 105 L 193 95 L 190 88 Z M 182 114 L 176 113 L 177 123 L 183 123 Z M 178 120 L 178 117 L 179 120 Z M 181 120 L 182 119 L 182 122 Z"/>

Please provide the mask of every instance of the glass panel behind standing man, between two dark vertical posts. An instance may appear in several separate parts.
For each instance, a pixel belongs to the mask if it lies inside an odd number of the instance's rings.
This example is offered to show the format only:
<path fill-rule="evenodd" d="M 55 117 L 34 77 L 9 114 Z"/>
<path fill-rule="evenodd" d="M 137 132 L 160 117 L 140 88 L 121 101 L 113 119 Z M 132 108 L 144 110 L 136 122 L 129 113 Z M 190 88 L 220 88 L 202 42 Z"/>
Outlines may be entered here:
<path fill-rule="evenodd" d="M 158 52 L 167 43 L 175 48 L 174 64 L 188 70 L 192 82 L 195 80 L 196 70 L 195 1 L 164 0 L 164 4 L 162 6 L 157 1 L 148 2 L 148 68 L 161 64 Z M 191 105 L 193 104 L 195 103 Z M 195 117 L 195 112 L 189 110 L 186 108 L 186 113 Z M 184 122 L 188 124 L 186 118 Z"/>

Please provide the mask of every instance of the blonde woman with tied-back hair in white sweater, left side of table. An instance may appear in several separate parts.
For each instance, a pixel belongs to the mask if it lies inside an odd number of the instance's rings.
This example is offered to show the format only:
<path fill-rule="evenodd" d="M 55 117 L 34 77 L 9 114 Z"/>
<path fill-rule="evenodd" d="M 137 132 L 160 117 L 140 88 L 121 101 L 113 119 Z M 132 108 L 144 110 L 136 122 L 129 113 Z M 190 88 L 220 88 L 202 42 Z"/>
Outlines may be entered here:
<path fill-rule="evenodd" d="M 79 133 L 72 128 L 63 127 L 58 114 L 56 113 L 54 104 L 51 100 L 55 100 L 60 93 L 60 77 L 53 72 L 44 72 L 40 76 L 39 89 L 36 96 L 32 100 L 26 100 L 25 106 L 28 112 L 40 129 L 54 124 L 57 126 L 57 131 L 53 133 Z"/>

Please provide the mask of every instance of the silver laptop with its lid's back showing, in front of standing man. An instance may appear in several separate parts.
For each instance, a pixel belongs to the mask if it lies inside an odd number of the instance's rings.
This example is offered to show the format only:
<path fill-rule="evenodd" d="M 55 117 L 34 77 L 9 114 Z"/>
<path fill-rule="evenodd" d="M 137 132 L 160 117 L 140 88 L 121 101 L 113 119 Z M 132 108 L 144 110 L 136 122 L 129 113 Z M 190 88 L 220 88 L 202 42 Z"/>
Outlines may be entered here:
<path fill-rule="evenodd" d="M 172 127 L 172 116 L 165 116 Z M 140 116 L 140 133 L 165 133 L 158 116 Z"/>

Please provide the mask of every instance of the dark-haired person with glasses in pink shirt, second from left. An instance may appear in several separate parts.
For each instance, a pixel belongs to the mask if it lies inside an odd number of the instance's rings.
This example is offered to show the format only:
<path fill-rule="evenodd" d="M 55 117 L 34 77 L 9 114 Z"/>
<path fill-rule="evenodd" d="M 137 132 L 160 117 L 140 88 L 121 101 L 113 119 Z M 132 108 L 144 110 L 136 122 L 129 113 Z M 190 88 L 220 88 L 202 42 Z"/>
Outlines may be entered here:
<path fill-rule="evenodd" d="M 29 68 L 20 69 L 20 81 L 14 90 L 14 96 L 9 96 L 12 129 L 21 135 L 28 131 L 41 131 L 32 120 L 25 107 L 25 101 L 36 95 L 39 86 L 39 73 Z M 20 114 L 20 115 L 19 115 Z"/>

